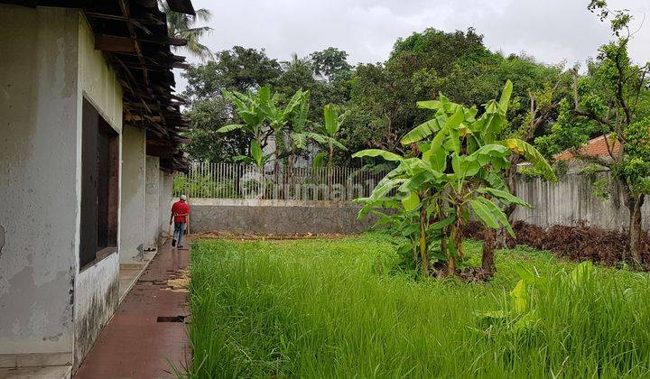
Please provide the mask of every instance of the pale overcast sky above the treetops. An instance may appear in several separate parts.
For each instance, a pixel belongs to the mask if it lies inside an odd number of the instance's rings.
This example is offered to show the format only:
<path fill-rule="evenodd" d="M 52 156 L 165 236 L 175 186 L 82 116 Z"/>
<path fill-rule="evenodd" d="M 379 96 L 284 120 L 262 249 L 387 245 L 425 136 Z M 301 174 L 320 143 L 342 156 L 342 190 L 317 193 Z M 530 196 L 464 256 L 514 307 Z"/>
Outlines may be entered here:
<path fill-rule="evenodd" d="M 265 48 L 278 60 L 329 46 L 348 51 L 350 63 L 388 57 L 395 40 L 433 27 L 445 32 L 473 26 L 493 51 L 526 52 L 547 63 L 584 61 L 609 39 L 588 0 L 193 0 L 208 8 L 212 51 L 234 45 Z M 650 0 L 609 0 L 626 8 L 638 29 L 631 55 L 650 60 Z M 644 22 L 644 18 L 647 18 Z M 182 52 L 181 52 L 182 53 Z M 185 54 L 183 54 L 185 55 Z M 190 61 L 193 61 L 190 59 Z M 178 76 L 177 76 L 178 77 Z M 178 79 L 179 90 L 184 80 Z"/>

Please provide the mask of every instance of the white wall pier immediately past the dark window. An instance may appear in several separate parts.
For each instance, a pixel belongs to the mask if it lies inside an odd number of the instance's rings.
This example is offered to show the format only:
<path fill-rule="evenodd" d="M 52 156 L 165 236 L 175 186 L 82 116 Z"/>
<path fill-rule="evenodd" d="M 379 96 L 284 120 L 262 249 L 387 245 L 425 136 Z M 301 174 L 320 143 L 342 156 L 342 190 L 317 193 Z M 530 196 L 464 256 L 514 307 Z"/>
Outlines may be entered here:
<path fill-rule="evenodd" d="M 141 263 L 143 260 L 145 140 L 144 130 L 135 126 L 124 127 L 120 263 Z"/>

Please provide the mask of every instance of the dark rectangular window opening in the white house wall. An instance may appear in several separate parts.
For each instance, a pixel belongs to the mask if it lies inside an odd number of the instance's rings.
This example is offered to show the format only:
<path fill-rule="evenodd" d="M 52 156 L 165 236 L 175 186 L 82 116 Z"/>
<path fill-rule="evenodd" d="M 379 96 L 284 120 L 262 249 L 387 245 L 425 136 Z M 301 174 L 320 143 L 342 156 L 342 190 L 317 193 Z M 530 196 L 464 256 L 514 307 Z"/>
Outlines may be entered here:
<path fill-rule="evenodd" d="M 79 265 L 117 250 L 119 136 L 84 98 L 81 131 Z"/>

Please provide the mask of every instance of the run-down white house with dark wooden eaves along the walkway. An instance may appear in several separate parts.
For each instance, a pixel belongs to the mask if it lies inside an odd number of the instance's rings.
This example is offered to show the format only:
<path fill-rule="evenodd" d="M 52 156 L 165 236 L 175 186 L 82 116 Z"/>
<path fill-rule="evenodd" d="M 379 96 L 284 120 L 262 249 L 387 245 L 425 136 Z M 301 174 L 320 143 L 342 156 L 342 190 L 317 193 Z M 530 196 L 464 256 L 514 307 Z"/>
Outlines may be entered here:
<path fill-rule="evenodd" d="M 168 232 L 181 43 L 156 0 L 0 0 L 0 367 L 79 367 Z"/>

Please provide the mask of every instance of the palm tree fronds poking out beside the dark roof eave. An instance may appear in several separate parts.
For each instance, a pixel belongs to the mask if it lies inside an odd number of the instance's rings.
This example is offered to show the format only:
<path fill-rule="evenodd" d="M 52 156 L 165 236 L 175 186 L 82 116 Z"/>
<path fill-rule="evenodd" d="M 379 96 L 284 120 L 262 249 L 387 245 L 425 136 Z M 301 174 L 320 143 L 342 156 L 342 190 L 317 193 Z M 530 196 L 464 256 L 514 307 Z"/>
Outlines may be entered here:
<path fill-rule="evenodd" d="M 167 15 L 167 29 L 170 37 L 187 40 L 188 43 L 183 48 L 200 60 L 213 59 L 214 55 L 208 46 L 199 42 L 200 38 L 208 34 L 212 28 L 209 26 L 194 27 L 197 21 L 208 22 L 212 18 L 209 10 L 201 8 L 196 11 L 196 15 L 181 14 L 172 11 L 166 1 L 161 0 L 159 3 L 163 13 Z"/>

